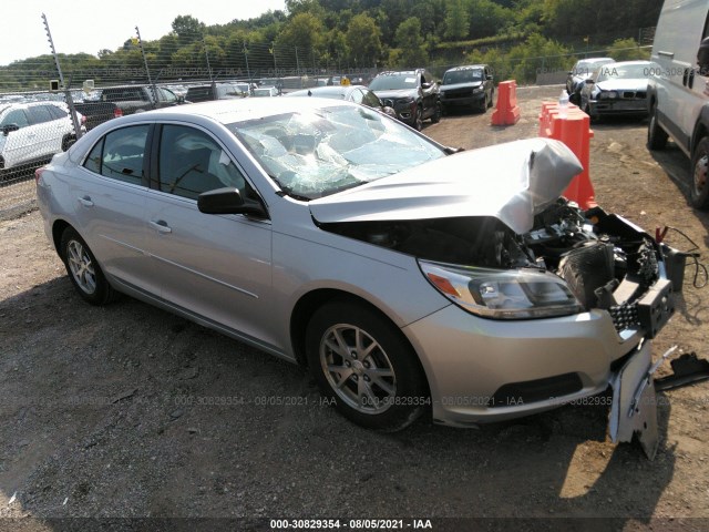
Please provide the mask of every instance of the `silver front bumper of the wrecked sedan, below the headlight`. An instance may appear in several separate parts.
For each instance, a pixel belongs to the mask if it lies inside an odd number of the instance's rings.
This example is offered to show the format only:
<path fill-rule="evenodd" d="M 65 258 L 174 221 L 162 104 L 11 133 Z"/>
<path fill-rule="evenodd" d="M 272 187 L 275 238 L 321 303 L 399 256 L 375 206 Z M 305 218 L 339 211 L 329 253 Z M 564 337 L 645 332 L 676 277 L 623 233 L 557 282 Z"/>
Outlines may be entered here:
<path fill-rule="evenodd" d="M 618 334 L 605 310 L 505 321 L 477 318 L 454 305 L 403 331 L 421 355 L 433 421 L 455 427 L 527 416 L 599 393 L 644 337 L 636 329 Z"/>

